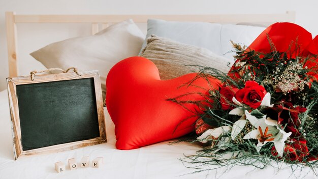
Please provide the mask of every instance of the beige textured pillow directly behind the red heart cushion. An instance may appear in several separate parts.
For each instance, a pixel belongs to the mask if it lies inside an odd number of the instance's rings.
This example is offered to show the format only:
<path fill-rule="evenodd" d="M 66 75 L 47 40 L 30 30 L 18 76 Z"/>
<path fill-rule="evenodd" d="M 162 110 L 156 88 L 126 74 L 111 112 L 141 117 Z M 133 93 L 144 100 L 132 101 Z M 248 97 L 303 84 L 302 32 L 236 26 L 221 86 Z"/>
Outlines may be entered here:
<path fill-rule="evenodd" d="M 213 67 L 228 73 L 233 62 L 208 49 L 172 41 L 151 35 L 147 46 L 142 50 L 142 57 L 150 59 L 158 68 L 162 80 L 176 78 L 187 73 L 198 72 L 200 65 Z M 192 65 L 192 66 L 191 66 Z"/>

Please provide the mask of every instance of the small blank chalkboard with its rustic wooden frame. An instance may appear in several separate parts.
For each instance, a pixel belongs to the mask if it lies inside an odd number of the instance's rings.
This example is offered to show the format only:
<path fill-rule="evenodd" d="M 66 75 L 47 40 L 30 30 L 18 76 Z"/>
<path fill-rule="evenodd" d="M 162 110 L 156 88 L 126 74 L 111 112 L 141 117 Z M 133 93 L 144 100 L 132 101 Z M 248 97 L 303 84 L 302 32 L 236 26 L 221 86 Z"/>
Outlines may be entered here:
<path fill-rule="evenodd" d="M 97 71 L 10 77 L 7 84 L 15 160 L 107 142 Z"/>

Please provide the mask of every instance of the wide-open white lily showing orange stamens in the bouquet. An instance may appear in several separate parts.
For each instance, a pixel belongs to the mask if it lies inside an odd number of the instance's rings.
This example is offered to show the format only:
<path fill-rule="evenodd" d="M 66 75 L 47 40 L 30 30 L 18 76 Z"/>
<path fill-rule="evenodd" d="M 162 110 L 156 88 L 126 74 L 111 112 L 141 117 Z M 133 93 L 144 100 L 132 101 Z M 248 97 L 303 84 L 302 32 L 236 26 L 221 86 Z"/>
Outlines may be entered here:
<path fill-rule="evenodd" d="M 292 133 L 286 133 L 281 129 L 281 126 L 278 125 L 277 121 L 272 120 L 270 117 L 266 118 L 266 115 L 257 118 L 248 111 L 245 111 L 245 115 L 251 125 L 257 129 L 247 133 L 243 139 L 258 139 L 259 143 L 256 145 L 258 152 L 267 142 L 274 142 L 278 155 L 282 157 L 285 141 Z"/>

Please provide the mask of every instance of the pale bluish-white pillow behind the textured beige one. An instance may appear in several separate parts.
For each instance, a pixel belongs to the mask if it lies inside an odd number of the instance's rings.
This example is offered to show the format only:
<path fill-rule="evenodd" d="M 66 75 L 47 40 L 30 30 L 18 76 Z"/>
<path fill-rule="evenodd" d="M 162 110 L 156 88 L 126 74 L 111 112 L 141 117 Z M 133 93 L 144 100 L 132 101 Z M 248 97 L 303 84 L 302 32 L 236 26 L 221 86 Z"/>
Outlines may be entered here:
<path fill-rule="evenodd" d="M 251 25 L 232 25 L 208 22 L 178 22 L 149 19 L 146 38 L 154 34 L 188 45 L 209 49 L 234 61 L 230 40 L 250 45 L 265 29 Z M 146 47 L 146 40 L 143 47 Z M 139 53 L 141 54 L 141 52 Z"/>

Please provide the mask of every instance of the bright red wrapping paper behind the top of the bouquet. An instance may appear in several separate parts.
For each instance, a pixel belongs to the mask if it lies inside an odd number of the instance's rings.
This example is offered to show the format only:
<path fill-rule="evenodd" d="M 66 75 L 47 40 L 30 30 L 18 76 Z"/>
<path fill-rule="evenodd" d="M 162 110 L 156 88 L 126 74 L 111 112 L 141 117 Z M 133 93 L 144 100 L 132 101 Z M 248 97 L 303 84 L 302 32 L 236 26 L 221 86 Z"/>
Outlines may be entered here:
<path fill-rule="evenodd" d="M 262 53 L 270 53 L 273 49 L 268 40 L 270 38 L 276 51 L 289 52 L 291 58 L 296 56 L 311 56 L 313 61 L 308 61 L 305 66 L 310 68 L 318 68 L 318 36 L 312 39 L 311 33 L 305 28 L 290 22 L 277 22 L 267 27 L 247 48 L 247 50 L 255 50 Z M 297 45 L 297 46 L 296 46 Z M 297 47 L 297 48 L 296 48 Z M 238 62 L 237 60 L 236 62 Z M 229 76 L 240 78 L 238 73 L 232 71 L 236 68 L 233 66 L 229 72 Z M 312 81 L 318 80 L 318 74 L 308 72 L 312 76 Z"/>

